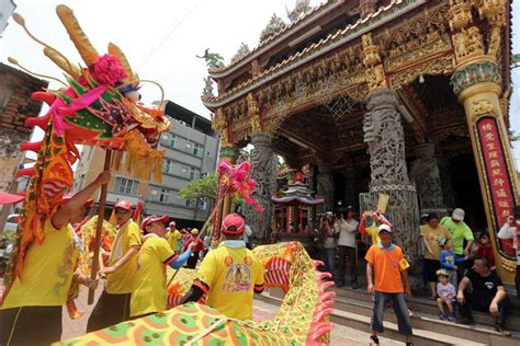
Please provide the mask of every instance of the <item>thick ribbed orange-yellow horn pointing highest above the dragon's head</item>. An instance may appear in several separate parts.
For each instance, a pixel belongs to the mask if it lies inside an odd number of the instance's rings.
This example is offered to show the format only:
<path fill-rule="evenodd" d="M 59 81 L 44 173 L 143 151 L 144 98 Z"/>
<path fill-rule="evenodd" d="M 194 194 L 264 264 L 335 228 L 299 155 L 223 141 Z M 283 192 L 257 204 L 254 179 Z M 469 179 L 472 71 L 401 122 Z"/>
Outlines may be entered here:
<path fill-rule="evenodd" d="M 76 49 L 78 49 L 84 64 L 87 64 L 87 66 L 94 64 L 98 60 L 99 54 L 83 33 L 81 26 L 79 26 L 78 20 L 74 15 L 72 10 L 65 4 L 58 4 L 56 7 L 56 14 L 58 14 L 59 20 L 67 30 L 70 39 L 75 44 Z"/>

